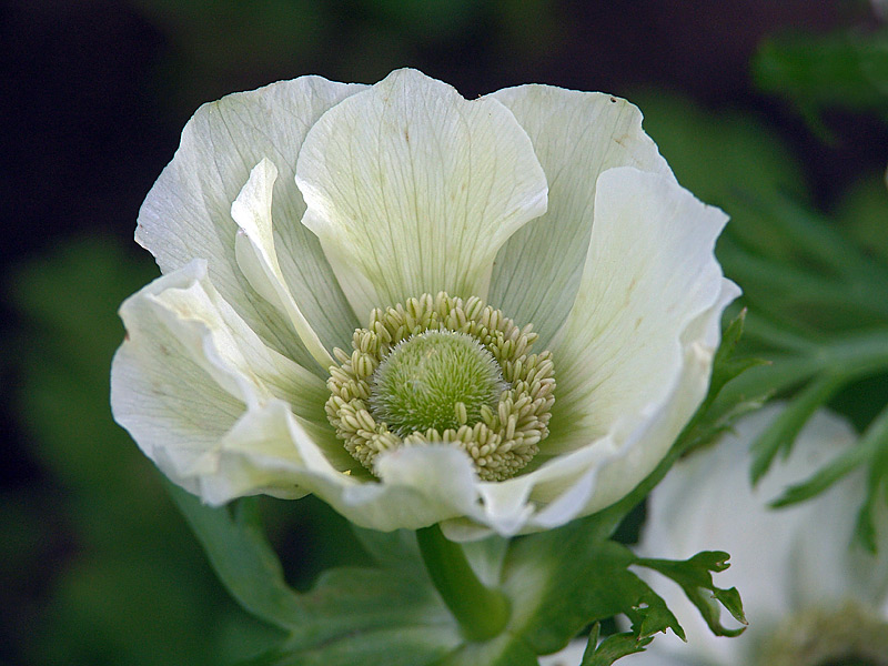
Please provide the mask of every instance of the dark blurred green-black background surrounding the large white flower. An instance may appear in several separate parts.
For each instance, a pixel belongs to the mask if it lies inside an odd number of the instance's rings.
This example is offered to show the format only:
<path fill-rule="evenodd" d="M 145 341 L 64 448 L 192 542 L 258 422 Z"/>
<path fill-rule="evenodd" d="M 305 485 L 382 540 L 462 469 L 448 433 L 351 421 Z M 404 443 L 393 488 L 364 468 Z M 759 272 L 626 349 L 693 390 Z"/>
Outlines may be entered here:
<path fill-rule="evenodd" d="M 831 283 L 815 306 L 761 265 L 829 279 L 787 231 L 800 216 L 888 264 L 887 58 L 856 0 L 2 3 L 0 663 L 231 664 L 265 637 L 108 407 L 117 307 L 158 274 L 131 240 L 139 205 L 202 102 L 405 65 L 467 98 L 526 82 L 626 97 L 679 181 L 734 218 L 719 256 L 750 309 L 830 333 L 885 324 L 886 284 L 845 299 Z M 888 382 L 830 400 L 862 428 Z M 300 589 L 365 557 L 311 498 L 265 514 Z"/>

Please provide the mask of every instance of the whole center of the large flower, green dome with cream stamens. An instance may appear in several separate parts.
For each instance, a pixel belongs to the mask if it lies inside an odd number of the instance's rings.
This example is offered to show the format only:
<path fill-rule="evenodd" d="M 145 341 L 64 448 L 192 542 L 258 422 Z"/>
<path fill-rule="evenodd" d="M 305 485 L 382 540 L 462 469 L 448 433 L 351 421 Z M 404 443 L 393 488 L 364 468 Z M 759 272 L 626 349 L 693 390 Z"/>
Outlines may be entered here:
<path fill-rule="evenodd" d="M 476 297 L 423 294 L 374 310 L 334 350 L 326 415 L 345 450 L 371 472 L 398 446 L 447 443 L 484 481 L 514 476 L 548 436 L 552 354 L 537 335 Z"/>

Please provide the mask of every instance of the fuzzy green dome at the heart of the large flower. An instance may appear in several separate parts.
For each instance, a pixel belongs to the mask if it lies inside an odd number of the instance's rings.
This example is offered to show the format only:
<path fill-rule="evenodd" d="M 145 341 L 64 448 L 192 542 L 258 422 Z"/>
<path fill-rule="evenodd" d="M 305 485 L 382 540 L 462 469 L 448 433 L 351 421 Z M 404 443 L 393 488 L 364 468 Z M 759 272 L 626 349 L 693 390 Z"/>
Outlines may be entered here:
<path fill-rule="evenodd" d="M 475 425 L 507 387 L 493 354 L 453 331 L 426 331 L 398 343 L 370 385 L 370 413 L 401 437 Z"/>

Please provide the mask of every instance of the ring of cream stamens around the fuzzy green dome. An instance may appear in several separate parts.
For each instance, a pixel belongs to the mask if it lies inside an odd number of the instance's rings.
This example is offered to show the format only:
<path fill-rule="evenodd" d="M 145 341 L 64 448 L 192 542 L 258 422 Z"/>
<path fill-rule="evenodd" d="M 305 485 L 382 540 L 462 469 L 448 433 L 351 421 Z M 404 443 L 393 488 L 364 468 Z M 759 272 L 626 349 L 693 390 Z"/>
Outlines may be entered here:
<path fill-rule="evenodd" d="M 380 404 L 385 396 L 374 395 L 379 392 L 377 370 L 398 344 L 427 331 L 453 332 L 477 341 L 502 372 L 497 389 L 502 392 L 498 401 L 475 410 L 455 402 L 450 427 L 406 432 L 403 424 L 384 420 Z M 555 402 L 552 354 L 529 353 L 536 339 L 529 325 L 518 329 L 501 311 L 474 296 L 463 301 L 441 292 L 376 309 L 370 325 L 354 332 L 352 353 L 333 352 L 339 364 L 330 369 L 327 418 L 349 453 L 371 472 L 384 451 L 443 442 L 465 451 L 482 480 L 509 478 L 539 451 Z"/>

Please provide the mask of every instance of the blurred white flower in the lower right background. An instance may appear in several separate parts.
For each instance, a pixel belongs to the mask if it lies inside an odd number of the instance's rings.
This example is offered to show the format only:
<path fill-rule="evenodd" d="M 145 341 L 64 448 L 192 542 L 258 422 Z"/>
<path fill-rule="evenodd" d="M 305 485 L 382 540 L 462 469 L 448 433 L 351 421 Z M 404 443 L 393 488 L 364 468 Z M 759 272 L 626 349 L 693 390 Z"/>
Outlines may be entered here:
<path fill-rule="evenodd" d="M 880 556 L 852 545 L 855 515 L 864 498 L 861 474 L 841 480 L 817 497 L 781 509 L 768 504 L 807 480 L 847 446 L 855 433 L 839 417 L 817 413 L 793 453 L 778 460 L 755 487 L 749 483 L 749 444 L 779 413 L 768 407 L 738 424 L 736 435 L 678 463 L 650 494 L 639 554 L 686 558 L 699 551 L 730 554 L 719 587 L 736 586 L 749 620 L 736 638 L 716 637 L 687 598 L 652 581 L 685 628 L 687 643 L 657 636 L 626 666 L 818 666 L 888 664 L 871 655 L 830 654 L 866 644 L 888 646 L 888 516 L 881 514 Z M 804 647 L 801 647 L 804 646 Z M 855 662 L 857 663 L 857 662 Z"/>

